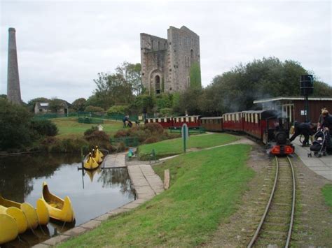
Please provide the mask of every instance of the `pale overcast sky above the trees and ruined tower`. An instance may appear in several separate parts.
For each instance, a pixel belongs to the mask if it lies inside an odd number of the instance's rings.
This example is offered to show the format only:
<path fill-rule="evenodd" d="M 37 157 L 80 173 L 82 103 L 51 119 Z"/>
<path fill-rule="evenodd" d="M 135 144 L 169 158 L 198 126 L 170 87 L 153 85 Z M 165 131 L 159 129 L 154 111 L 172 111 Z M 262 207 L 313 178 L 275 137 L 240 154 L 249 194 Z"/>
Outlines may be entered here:
<path fill-rule="evenodd" d="M 298 61 L 332 86 L 332 1 L 0 0 L 0 94 L 7 92 L 8 28 L 16 29 L 22 100 L 93 94 L 97 73 L 140 63 L 139 34 L 170 26 L 200 36 L 202 85 L 254 59 Z"/>

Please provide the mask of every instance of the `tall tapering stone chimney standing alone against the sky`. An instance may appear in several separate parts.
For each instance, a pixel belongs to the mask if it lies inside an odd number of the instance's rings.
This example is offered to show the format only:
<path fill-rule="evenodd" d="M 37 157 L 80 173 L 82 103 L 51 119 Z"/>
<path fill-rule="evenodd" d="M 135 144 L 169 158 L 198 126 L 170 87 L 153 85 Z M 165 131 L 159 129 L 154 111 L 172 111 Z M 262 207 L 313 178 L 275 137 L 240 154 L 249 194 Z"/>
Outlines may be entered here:
<path fill-rule="evenodd" d="M 18 52 L 16 50 L 15 29 L 8 29 L 8 76 L 7 99 L 12 103 L 21 104 L 20 78 L 18 77 Z"/>

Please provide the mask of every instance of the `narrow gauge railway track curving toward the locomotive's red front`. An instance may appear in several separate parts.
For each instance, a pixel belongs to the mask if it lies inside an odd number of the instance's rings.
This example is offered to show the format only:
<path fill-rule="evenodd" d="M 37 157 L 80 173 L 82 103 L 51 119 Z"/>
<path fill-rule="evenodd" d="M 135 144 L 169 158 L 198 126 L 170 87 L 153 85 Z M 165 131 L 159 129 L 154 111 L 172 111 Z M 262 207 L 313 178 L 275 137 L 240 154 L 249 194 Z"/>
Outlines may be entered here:
<path fill-rule="evenodd" d="M 289 156 L 276 156 L 275 160 L 275 182 L 261 222 L 248 247 L 289 247 L 295 210 L 295 175 Z"/>

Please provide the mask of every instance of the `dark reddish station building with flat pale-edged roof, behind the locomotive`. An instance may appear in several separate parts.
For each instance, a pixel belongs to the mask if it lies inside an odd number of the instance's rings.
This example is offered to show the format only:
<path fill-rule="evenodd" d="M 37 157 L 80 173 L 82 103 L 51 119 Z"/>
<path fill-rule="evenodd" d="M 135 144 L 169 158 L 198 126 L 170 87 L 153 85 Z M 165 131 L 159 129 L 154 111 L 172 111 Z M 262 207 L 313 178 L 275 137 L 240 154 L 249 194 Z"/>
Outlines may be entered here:
<path fill-rule="evenodd" d="M 317 123 L 322 108 L 327 108 L 332 113 L 332 97 L 309 97 L 309 119 Z M 272 99 L 261 99 L 254 101 L 254 104 L 262 106 L 263 110 L 279 110 L 282 117 L 289 117 L 291 123 L 305 122 L 305 100 L 304 97 L 276 97 Z"/>

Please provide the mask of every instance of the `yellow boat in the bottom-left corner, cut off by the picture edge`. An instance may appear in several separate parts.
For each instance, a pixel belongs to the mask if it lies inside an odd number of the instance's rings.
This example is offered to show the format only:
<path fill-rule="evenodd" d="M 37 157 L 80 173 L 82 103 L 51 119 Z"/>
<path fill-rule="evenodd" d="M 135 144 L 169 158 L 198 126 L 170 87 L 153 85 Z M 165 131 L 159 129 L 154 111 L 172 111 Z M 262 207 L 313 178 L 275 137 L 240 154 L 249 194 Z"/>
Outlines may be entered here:
<path fill-rule="evenodd" d="M 0 205 L 0 245 L 15 240 L 18 236 L 18 223 L 12 215 L 8 214 L 11 211 L 7 207 Z"/>

